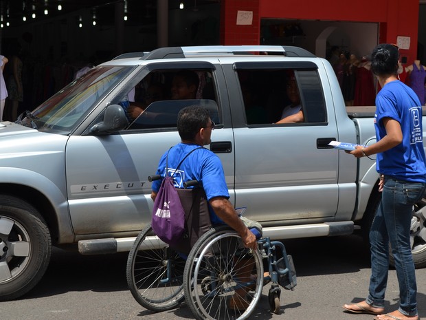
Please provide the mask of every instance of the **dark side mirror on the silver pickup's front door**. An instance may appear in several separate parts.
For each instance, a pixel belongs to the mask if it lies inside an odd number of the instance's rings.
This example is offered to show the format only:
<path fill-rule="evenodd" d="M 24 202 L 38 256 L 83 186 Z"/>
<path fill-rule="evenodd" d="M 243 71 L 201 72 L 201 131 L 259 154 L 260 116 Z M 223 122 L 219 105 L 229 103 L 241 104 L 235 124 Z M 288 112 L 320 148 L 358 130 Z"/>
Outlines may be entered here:
<path fill-rule="evenodd" d="M 111 134 L 128 126 L 126 112 L 121 105 L 109 105 L 104 113 L 104 120 L 93 125 L 91 134 Z"/>

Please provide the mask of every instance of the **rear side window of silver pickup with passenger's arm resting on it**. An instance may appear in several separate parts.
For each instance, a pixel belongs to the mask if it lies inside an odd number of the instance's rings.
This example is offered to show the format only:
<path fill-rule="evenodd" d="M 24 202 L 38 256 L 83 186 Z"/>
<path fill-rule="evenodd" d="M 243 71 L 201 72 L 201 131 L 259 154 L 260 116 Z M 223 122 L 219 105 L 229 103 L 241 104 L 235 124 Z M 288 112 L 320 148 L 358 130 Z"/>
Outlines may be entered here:
<path fill-rule="evenodd" d="M 247 125 L 325 122 L 316 70 L 238 70 Z"/>

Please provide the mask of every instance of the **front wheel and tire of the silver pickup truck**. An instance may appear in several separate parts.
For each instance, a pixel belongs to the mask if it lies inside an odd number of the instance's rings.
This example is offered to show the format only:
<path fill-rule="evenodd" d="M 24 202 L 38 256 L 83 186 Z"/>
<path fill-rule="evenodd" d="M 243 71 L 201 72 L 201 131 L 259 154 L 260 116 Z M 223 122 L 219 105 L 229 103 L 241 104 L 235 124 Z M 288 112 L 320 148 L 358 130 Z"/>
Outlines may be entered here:
<path fill-rule="evenodd" d="M 21 199 L 0 195 L 0 301 L 34 288 L 51 253 L 49 228 L 38 211 Z"/>

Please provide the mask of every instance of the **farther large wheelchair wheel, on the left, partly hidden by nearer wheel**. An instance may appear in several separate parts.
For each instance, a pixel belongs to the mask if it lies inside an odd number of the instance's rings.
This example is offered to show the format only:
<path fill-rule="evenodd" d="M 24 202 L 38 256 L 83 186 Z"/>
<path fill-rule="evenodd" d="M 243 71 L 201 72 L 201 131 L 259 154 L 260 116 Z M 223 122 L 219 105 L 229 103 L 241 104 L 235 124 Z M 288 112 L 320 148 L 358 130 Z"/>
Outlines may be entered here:
<path fill-rule="evenodd" d="M 135 239 L 127 259 L 127 284 L 135 300 L 152 311 L 179 306 L 184 299 L 185 262 L 155 237 L 148 224 Z"/>

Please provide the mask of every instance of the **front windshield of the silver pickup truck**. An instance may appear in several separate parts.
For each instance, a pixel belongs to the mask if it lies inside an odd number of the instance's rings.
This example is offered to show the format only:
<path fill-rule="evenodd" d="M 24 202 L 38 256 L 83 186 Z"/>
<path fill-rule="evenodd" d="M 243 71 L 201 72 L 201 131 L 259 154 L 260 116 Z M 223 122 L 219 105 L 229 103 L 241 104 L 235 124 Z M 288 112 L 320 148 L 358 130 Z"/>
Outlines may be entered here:
<path fill-rule="evenodd" d="M 99 66 L 69 83 L 17 122 L 40 131 L 69 134 L 133 67 Z"/>

